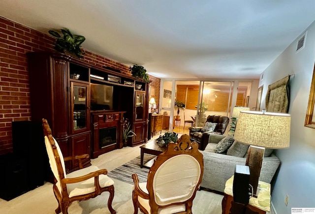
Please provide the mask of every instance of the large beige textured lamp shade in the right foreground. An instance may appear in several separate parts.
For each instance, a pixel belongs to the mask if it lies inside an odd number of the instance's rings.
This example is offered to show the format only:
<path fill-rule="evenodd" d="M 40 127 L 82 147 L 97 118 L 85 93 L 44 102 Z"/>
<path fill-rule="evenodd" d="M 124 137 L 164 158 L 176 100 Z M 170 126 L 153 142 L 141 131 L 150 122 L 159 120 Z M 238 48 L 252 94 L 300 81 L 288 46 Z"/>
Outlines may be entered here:
<path fill-rule="evenodd" d="M 288 148 L 290 145 L 290 114 L 241 111 L 234 139 L 265 148 Z"/>

